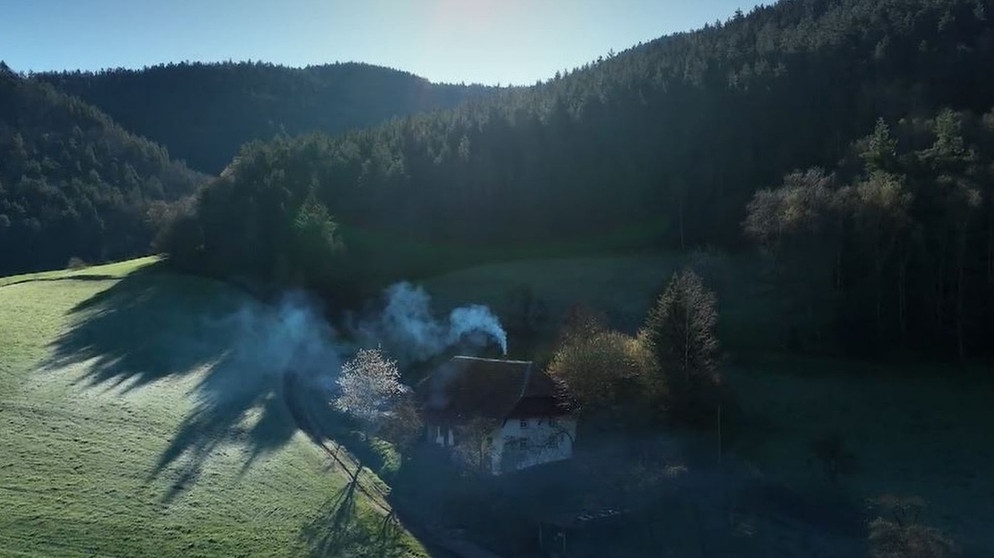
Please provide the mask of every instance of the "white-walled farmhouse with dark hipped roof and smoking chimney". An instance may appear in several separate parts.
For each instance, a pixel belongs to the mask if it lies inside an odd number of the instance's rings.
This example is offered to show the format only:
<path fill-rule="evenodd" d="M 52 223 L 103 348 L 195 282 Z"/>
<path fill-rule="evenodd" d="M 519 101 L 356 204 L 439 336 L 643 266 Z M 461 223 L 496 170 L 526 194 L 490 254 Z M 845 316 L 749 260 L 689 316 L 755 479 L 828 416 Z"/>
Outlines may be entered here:
<path fill-rule="evenodd" d="M 533 363 L 457 356 L 419 386 L 430 442 L 493 475 L 569 459 L 576 418 Z"/>

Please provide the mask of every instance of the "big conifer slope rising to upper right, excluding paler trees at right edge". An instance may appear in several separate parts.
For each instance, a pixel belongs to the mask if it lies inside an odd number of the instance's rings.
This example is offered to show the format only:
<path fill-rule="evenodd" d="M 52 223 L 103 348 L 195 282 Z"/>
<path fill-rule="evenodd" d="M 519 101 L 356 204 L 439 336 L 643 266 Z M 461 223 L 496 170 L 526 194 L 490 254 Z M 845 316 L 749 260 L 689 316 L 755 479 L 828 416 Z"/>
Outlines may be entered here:
<path fill-rule="evenodd" d="M 877 118 L 994 106 L 991 4 L 780 2 L 288 156 L 343 220 L 421 237 L 665 219 L 670 244 L 736 243 L 755 190 L 834 165 Z"/>

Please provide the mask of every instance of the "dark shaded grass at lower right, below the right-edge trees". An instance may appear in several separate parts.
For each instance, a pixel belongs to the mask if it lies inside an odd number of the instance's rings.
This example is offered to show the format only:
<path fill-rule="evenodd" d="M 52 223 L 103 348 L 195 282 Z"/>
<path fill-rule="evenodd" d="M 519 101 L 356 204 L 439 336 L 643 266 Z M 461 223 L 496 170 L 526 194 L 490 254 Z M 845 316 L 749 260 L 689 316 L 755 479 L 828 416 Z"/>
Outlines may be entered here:
<path fill-rule="evenodd" d="M 763 476 L 802 491 L 829 487 L 811 443 L 837 434 L 855 468 L 834 490 L 917 496 L 922 520 L 965 556 L 994 552 L 989 371 L 781 356 L 727 377 L 748 420 L 735 451 Z"/>

